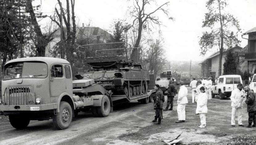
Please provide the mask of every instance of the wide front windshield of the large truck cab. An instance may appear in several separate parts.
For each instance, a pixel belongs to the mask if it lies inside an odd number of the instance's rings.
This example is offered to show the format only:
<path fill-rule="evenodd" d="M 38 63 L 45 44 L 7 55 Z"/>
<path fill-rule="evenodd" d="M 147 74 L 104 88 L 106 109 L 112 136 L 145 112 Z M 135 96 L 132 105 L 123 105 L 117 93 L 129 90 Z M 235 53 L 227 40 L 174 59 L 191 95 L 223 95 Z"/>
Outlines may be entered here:
<path fill-rule="evenodd" d="M 46 78 L 47 72 L 47 64 L 43 62 L 16 62 L 4 66 L 2 79 Z"/>

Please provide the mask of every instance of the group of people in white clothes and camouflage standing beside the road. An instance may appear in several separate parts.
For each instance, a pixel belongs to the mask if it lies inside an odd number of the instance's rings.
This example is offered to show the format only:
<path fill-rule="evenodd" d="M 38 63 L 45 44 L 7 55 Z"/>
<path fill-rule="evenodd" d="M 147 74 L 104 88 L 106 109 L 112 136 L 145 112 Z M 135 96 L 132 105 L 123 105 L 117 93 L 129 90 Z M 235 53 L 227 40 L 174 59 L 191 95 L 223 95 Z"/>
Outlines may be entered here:
<path fill-rule="evenodd" d="M 180 89 L 178 92 L 177 99 L 177 113 L 178 120 L 175 123 L 183 123 L 186 120 L 186 112 L 185 107 L 188 104 L 188 89 L 185 87 L 183 81 L 179 81 L 177 83 Z M 192 103 L 196 102 L 196 115 L 200 116 L 200 128 L 206 127 L 206 113 L 208 112 L 207 101 L 211 98 L 211 86 L 212 80 L 209 77 L 208 80 L 195 80 L 193 78 L 192 82 L 189 85 L 192 88 Z M 160 86 L 158 84 L 155 85 L 155 89 L 157 90 L 154 96 L 154 109 L 155 109 L 155 119 L 152 122 L 157 124 L 161 124 L 161 120 L 163 119 L 163 102 L 164 95 L 163 92 L 159 89 Z M 245 85 L 244 89 L 242 84 L 238 84 L 237 88 L 235 88 L 230 96 L 232 113 L 231 113 L 231 126 L 235 127 L 235 116 L 238 118 L 238 126 L 244 126 L 242 124 L 242 107 L 244 104 L 247 104 L 247 112 L 249 113 L 248 126 L 247 127 L 255 127 L 256 126 L 256 98 L 253 90 L 250 90 L 249 85 Z M 176 94 L 176 89 L 173 84 L 173 81 L 169 81 L 169 86 L 167 89 L 167 106 L 164 111 L 173 109 L 173 99 Z M 169 106 L 171 106 L 170 109 Z M 157 120 L 158 119 L 158 120 Z M 252 125 L 253 122 L 253 125 Z"/>

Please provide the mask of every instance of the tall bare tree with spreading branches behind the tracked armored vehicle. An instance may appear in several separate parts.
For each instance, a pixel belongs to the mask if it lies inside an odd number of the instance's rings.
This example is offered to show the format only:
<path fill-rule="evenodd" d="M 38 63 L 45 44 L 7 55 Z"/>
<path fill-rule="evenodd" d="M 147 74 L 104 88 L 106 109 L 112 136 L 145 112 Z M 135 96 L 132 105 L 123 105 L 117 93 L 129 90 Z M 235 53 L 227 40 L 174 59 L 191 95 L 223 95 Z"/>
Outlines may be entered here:
<path fill-rule="evenodd" d="M 161 25 L 162 22 L 159 21 L 158 16 L 155 16 L 155 12 L 157 11 L 162 11 L 169 19 L 173 19 L 172 17 L 169 16 L 168 11 L 166 10 L 166 6 L 169 5 L 169 2 L 165 2 L 160 6 L 157 6 L 154 10 L 147 12 L 146 7 L 150 6 L 151 3 L 155 3 L 154 5 L 156 5 L 156 1 L 154 0 L 134 0 L 134 4 L 133 4 L 133 9 L 130 12 L 130 15 L 134 18 L 133 20 L 133 24 L 134 25 L 138 25 L 138 35 L 136 38 L 136 42 L 134 47 L 139 47 L 140 46 L 140 41 L 141 41 L 141 35 L 142 35 L 142 29 L 147 29 L 148 31 L 151 31 L 151 26 L 154 27 L 154 25 Z M 152 6 L 152 5 L 151 5 Z M 138 58 L 138 53 L 135 52 L 136 49 L 134 49 L 134 51 L 132 52 L 132 58 L 135 62 L 138 62 L 137 58 Z"/>

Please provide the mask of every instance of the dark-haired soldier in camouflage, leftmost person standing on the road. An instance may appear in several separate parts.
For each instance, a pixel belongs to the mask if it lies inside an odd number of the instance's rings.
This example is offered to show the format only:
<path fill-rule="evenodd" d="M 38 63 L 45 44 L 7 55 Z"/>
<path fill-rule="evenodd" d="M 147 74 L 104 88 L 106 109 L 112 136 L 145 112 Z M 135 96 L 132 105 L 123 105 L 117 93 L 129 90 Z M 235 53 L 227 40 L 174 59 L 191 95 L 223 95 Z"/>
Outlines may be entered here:
<path fill-rule="evenodd" d="M 162 109 L 163 109 L 164 96 L 163 96 L 163 91 L 159 89 L 160 88 L 159 84 L 156 84 L 154 88 L 156 89 L 155 96 L 153 98 L 154 109 L 155 109 L 155 119 L 152 120 L 152 122 L 155 122 L 155 124 L 161 124 L 161 120 L 163 118 Z M 157 118 L 158 118 L 158 122 L 157 122 Z"/>

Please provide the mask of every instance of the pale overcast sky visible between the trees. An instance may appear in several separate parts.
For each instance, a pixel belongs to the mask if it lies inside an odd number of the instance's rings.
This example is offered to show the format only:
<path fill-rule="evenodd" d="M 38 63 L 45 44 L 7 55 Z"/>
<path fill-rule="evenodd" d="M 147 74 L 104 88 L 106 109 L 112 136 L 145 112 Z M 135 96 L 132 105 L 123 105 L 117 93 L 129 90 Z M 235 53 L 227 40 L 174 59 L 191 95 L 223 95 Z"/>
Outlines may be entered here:
<path fill-rule="evenodd" d="M 54 11 L 57 0 L 42 0 L 41 11 L 50 15 Z M 66 0 L 62 0 L 63 5 Z M 168 2 L 157 0 L 157 4 Z M 159 20 L 163 22 L 161 30 L 164 38 L 164 47 L 168 60 L 201 61 L 210 54 L 217 52 L 217 48 L 209 51 L 204 57 L 200 56 L 199 37 L 202 35 L 202 21 L 206 0 L 170 0 L 168 10 L 175 21 L 168 20 L 163 13 L 157 13 Z M 227 0 L 229 5 L 226 11 L 237 17 L 242 33 L 256 27 L 256 0 Z M 75 15 L 80 26 L 82 23 L 92 21 L 91 26 L 109 29 L 113 19 L 127 18 L 127 0 L 76 0 Z M 57 5 L 58 7 L 58 5 Z M 155 6 L 152 6 L 152 9 Z M 39 22 L 44 26 L 50 20 Z M 247 45 L 247 40 L 242 39 L 240 46 Z"/>

